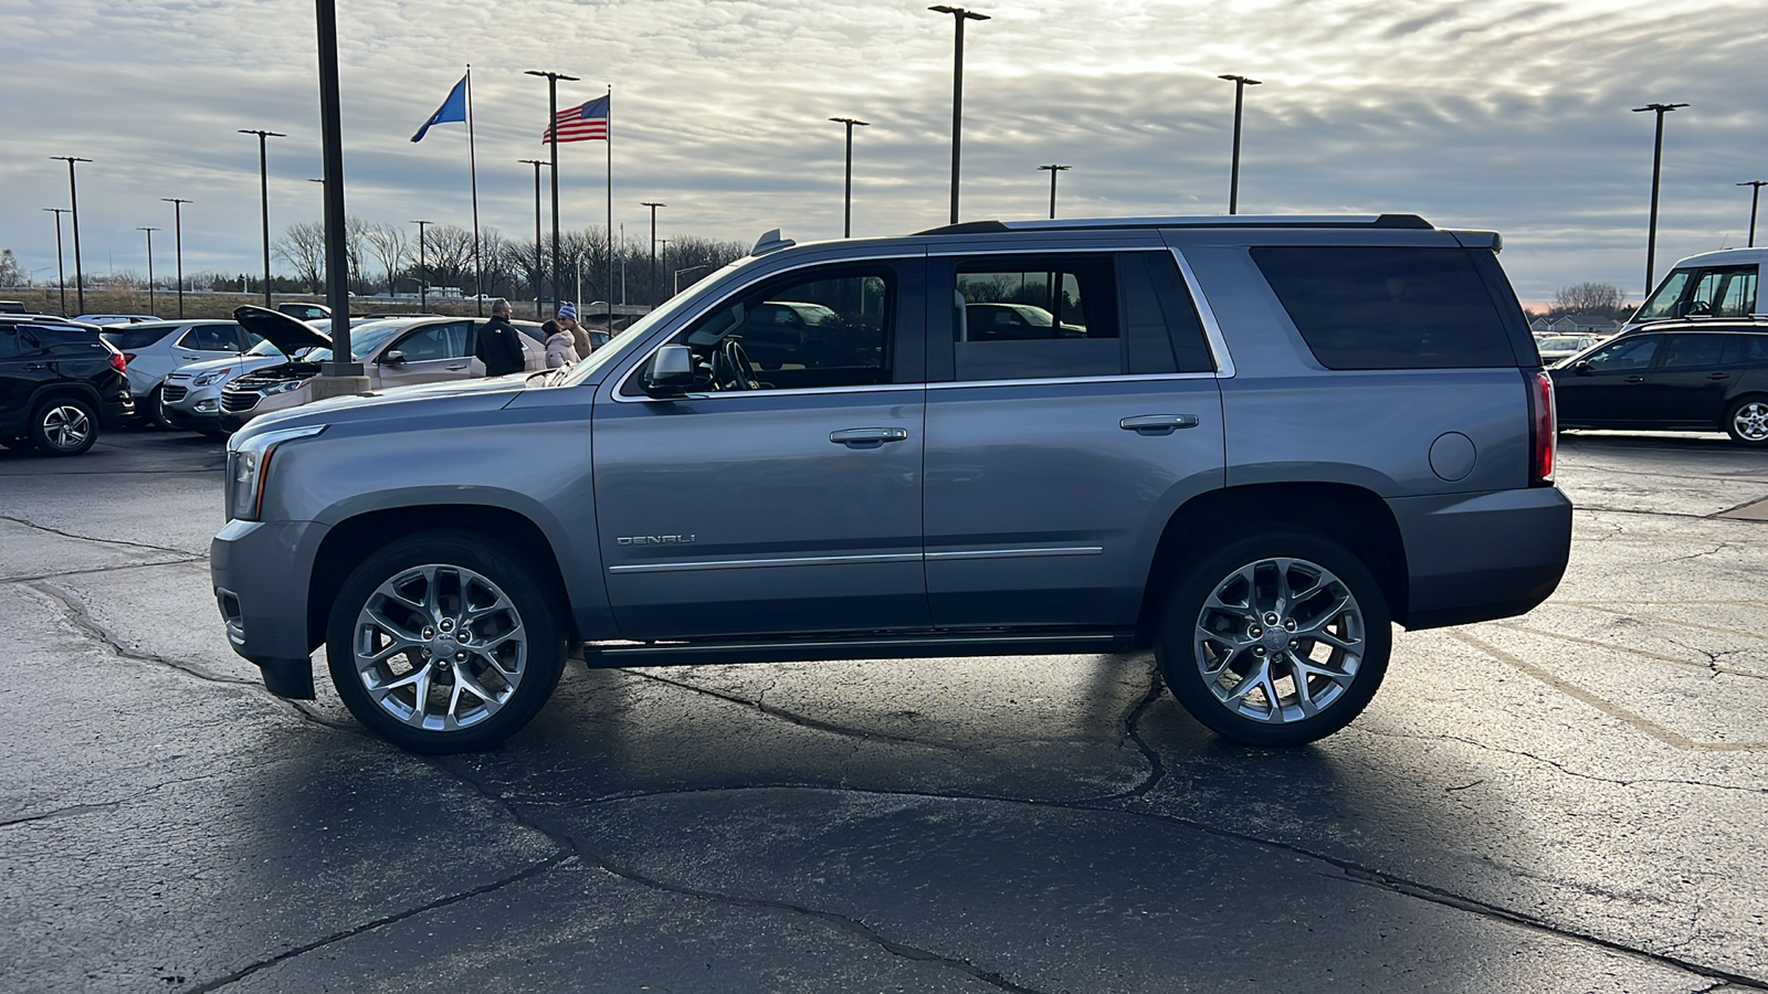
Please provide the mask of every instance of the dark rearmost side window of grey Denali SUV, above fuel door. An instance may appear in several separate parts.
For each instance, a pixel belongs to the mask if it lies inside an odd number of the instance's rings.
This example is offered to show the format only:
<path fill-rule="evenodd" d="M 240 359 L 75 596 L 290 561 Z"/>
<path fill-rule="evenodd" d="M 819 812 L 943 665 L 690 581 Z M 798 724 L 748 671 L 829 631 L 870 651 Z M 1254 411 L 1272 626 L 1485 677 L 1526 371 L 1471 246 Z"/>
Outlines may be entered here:
<path fill-rule="evenodd" d="M 1517 364 L 1466 249 L 1271 246 L 1252 260 L 1328 370 Z"/>

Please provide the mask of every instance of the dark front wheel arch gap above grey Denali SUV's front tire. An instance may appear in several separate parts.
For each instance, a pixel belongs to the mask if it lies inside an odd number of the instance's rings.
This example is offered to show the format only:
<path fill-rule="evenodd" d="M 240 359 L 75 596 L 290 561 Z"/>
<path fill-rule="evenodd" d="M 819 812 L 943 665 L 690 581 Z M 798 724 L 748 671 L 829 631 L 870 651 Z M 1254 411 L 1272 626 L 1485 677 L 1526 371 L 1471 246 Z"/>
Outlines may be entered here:
<path fill-rule="evenodd" d="M 559 557 L 532 518 L 495 504 L 424 504 L 362 511 L 327 529 L 308 580 L 308 651 L 325 644 L 332 594 L 357 564 L 401 538 L 431 531 L 472 532 L 532 564 L 539 571 L 539 582 L 559 598 L 559 617 L 568 637 L 573 642 L 580 638 Z"/>

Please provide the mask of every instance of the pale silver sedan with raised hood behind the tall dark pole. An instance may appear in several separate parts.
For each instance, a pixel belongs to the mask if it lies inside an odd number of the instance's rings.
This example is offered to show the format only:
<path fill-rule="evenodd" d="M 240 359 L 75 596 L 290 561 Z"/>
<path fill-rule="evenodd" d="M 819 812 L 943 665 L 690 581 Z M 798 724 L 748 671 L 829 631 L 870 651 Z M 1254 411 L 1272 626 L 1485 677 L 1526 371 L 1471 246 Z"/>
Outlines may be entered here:
<path fill-rule="evenodd" d="M 309 382 L 320 363 L 331 359 L 331 336 L 311 324 L 263 308 L 233 311 L 253 333 L 274 341 L 286 356 L 299 359 L 265 366 L 233 377 L 221 389 L 221 432 L 269 414 L 313 401 Z M 350 352 L 362 363 L 371 389 L 465 380 L 484 377 L 484 363 L 474 357 L 484 318 L 387 318 L 350 327 Z M 511 322 L 522 331 L 523 363 L 529 371 L 546 368 L 541 325 Z"/>

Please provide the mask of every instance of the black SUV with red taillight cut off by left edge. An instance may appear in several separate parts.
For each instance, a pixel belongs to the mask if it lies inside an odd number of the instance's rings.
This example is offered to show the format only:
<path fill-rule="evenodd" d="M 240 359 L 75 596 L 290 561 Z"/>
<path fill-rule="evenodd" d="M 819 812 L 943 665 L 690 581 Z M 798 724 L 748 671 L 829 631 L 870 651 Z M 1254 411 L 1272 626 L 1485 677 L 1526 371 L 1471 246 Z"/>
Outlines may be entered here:
<path fill-rule="evenodd" d="M 133 414 L 122 352 L 95 327 L 0 315 L 0 442 L 76 456 Z"/>

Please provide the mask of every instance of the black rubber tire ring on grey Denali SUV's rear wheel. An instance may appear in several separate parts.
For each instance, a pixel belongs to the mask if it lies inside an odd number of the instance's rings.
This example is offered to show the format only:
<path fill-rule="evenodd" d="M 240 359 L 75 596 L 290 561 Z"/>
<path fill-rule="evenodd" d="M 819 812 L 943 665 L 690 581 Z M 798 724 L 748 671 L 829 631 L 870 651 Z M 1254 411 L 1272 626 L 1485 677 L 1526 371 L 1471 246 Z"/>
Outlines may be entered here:
<path fill-rule="evenodd" d="M 1204 600 L 1232 571 L 1262 559 L 1292 557 L 1326 568 L 1351 589 L 1363 610 L 1363 658 L 1356 679 L 1330 707 L 1312 718 L 1269 725 L 1236 715 L 1216 700 L 1197 669 L 1193 631 Z M 1155 656 L 1172 695 L 1216 734 L 1241 745 L 1292 746 L 1330 736 L 1349 725 L 1381 688 L 1393 649 L 1388 598 L 1374 573 L 1351 550 L 1307 531 L 1268 531 L 1206 552 L 1174 585 L 1155 638 Z"/>

